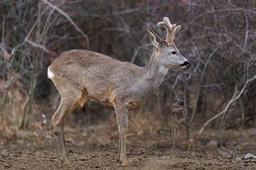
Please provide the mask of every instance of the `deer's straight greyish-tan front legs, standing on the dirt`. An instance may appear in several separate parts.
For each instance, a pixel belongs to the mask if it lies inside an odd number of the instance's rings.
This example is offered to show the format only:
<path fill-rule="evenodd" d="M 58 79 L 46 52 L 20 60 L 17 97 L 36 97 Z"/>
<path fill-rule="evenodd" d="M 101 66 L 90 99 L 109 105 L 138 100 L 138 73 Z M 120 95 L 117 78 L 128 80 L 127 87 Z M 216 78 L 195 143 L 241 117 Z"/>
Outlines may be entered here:
<path fill-rule="evenodd" d="M 119 128 L 119 148 L 117 154 L 117 162 L 122 167 L 128 167 L 128 162 L 126 159 L 126 136 L 128 131 L 127 121 L 128 121 L 128 110 L 125 106 L 116 106 L 116 119 Z"/>

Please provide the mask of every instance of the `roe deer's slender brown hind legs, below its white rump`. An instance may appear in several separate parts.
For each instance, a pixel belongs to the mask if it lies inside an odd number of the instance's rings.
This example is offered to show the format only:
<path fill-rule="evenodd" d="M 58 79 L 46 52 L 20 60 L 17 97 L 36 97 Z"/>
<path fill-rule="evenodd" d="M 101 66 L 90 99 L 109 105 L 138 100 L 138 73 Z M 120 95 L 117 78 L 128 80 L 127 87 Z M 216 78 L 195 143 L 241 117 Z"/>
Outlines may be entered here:
<path fill-rule="evenodd" d="M 76 108 L 78 105 L 78 100 L 81 98 L 81 92 L 76 90 L 71 90 L 66 88 L 67 91 L 58 90 L 61 93 L 61 104 L 58 107 L 58 110 L 52 117 L 52 124 L 54 128 L 54 134 L 56 136 L 58 150 L 61 156 L 61 161 L 64 164 L 70 164 L 70 158 L 68 156 L 67 144 L 64 137 L 64 122 L 67 119 L 67 116 Z"/>

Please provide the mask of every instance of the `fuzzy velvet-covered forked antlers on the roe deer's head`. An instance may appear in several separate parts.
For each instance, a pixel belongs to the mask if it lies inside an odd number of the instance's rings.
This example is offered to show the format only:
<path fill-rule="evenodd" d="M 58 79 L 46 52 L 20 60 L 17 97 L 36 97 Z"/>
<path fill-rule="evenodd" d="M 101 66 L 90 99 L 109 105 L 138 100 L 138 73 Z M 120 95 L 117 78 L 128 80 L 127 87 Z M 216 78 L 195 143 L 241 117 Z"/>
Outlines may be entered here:
<path fill-rule="evenodd" d="M 173 24 L 173 25 L 172 25 L 172 24 L 170 23 L 169 18 L 167 18 L 167 17 L 164 17 L 164 18 L 163 18 L 163 22 L 157 23 L 157 26 L 161 26 L 161 27 L 166 28 L 166 31 L 167 31 L 166 42 L 167 42 L 168 44 L 169 44 L 169 43 L 172 43 L 175 34 L 176 34 L 176 33 L 180 30 L 180 28 L 181 28 L 181 26 L 177 26 L 177 27 L 176 27 L 176 24 Z"/>

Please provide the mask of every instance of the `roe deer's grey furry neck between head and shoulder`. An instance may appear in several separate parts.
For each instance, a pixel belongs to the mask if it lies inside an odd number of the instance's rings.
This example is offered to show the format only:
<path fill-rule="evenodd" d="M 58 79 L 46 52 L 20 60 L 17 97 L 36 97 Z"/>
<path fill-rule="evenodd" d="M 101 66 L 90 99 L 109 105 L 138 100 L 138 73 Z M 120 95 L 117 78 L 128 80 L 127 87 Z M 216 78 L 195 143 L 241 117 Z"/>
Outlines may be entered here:
<path fill-rule="evenodd" d="M 162 83 L 167 72 L 168 68 L 164 67 L 157 61 L 157 57 L 154 52 L 142 72 L 143 86 L 146 86 L 147 88 L 145 92 L 149 94 L 153 93 Z"/>

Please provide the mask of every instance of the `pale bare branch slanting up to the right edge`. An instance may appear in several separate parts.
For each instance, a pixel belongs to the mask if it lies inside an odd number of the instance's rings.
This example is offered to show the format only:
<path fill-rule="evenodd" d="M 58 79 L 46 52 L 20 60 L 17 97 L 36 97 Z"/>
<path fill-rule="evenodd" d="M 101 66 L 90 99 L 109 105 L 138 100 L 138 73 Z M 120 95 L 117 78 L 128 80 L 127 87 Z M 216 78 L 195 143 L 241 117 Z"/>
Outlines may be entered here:
<path fill-rule="evenodd" d="M 244 89 L 246 88 L 247 84 L 251 81 L 253 81 L 254 79 L 256 79 L 256 75 L 253 78 L 247 79 L 247 81 L 244 84 L 244 87 L 242 88 L 242 90 L 238 93 L 238 91 L 235 92 L 235 94 L 232 96 L 232 98 L 230 99 L 230 101 L 227 103 L 226 108 L 221 111 L 220 113 L 218 113 L 217 115 L 213 116 L 211 119 L 209 119 L 207 122 L 204 123 L 204 126 L 201 128 L 201 130 L 199 131 L 198 135 L 200 135 L 203 130 L 204 127 L 206 125 L 208 125 L 209 122 L 211 122 L 212 120 L 216 119 L 218 116 L 222 115 L 223 113 L 225 113 L 227 111 L 227 109 L 229 108 L 230 104 L 235 102 L 237 99 L 239 99 L 239 97 L 241 96 L 241 94 L 244 92 Z M 238 95 L 237 95 L 238 94 Z"/>

